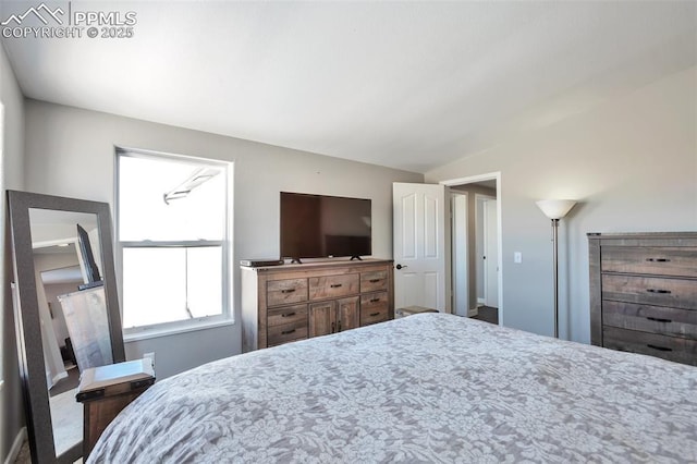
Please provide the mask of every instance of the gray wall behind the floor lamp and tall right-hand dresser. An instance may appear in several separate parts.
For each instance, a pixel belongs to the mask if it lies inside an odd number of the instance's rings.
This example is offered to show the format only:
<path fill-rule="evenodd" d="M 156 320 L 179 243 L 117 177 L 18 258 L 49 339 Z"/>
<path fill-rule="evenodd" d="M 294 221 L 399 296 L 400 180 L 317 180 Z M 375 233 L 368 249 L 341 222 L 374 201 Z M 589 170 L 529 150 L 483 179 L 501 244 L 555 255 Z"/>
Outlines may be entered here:
<path fill-rule="evenodd" d="M 582 203 L 560 227 L 560 335 L 586 343 L 586 233 L 697 230 L 696 113 L 693 68 L 426 173 L 439 182 L 501 171 L 506 326 L 553 333 L 550 220 L 536 200 Z"/>

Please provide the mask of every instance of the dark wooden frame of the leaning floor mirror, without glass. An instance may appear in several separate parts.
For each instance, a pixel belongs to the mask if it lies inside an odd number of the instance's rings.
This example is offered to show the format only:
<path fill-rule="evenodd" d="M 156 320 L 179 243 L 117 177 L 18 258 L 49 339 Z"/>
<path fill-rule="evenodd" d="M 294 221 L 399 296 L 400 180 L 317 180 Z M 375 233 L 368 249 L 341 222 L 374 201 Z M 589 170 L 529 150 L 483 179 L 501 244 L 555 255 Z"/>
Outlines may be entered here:
<path fill-rule="evenodd" d="M 46 386 L 44 349 L 37 297 L 29 209 L 47 209 L 94 213 L 99 228 L 102 280 L 107 317 L 114 363 L 125 361 L 121 312 L 117 290 L 109 204 L 64 198 L 28 192 L 8 191 L 12 230 L 15 295 L 15 328 L 20 377 L 24 392 L 25 415 L 32 462 L 72 463 L 83 455 L 80 441 L 61 455 L 56 455 L 48 388 Z"/>

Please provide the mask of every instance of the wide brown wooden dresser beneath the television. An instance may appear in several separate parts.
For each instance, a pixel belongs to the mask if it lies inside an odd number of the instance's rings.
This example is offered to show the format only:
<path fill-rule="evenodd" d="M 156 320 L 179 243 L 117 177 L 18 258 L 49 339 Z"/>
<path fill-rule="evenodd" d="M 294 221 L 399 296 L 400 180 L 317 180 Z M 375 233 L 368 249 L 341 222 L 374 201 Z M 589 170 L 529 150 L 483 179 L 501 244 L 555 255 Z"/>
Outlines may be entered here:
<path fill-rule="evenodd" d="M 392 260 L 242 267 L 242 350 L 394 318 Z"/>

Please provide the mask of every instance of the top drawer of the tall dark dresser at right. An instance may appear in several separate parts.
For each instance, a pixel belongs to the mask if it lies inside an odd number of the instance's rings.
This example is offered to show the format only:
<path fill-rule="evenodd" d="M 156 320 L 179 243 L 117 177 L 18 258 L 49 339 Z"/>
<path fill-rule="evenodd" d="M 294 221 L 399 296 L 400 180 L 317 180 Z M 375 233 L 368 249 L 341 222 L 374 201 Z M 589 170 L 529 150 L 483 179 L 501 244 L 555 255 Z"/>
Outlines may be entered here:
<path fill-rule="evenodd" d="M 697 248 L 603 246 L 603 272 L 697 277 Z"/>

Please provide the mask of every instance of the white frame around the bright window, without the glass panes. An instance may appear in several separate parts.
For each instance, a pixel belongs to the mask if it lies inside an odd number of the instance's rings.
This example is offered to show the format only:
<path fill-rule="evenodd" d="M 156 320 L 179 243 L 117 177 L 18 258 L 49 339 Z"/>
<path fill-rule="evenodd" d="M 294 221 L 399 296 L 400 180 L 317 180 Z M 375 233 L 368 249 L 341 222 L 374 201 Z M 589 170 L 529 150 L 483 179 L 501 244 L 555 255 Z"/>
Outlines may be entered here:
<path fill-rule="evenodd" d="M 139 148 L 125 148 L 125 147 L 114 147 L 115 156 L 114 156 L 114 172 L 115 172 L 115 182 L 114 182 L 114 237 L 115 237 L 115 267 L 117 267 L 117 283 L 119 286 L 119 298 L 123 302 L 123 249 L 125 247 L 147 247 L 147 248 L 159 248 L 159 247 L 178 247 L 178 248 L 187 248 L 187 247 L 205 247 L 205 246 L 221 246 L 222 247 L 222 312 L 219 315 L 215 316 L 204 316 L 197 317 L 193 319 L 170 321 L 170 322 L 160 322 L 152 323 L 148 326 L 139 326 L 139 327 L 124 327 L 123 335 L 124 341 L 136 341 L 136 340 L 145 340 L 156 337 L 163 337 L 173 333 L 182 333 L 189 332 L 195 330 L 201 330 L 212 327 L 228 326 L 233 325 L 234 320 L 234 310 L 232 308 L 233 305 L 233 282 L 232 282 L 232 262 L 233 262 L 233 240 L 232 240 L 232 231 L 233 231 L 233 196 L 232 196 L 232 183 L 233 183 L 233 172 L 234 166 L 231 161 L 220 161 L 212 160 L 208 158 L 201 157 L 192 157 L 185 155 L 174 155 L 174 154 L 164 154 L 159 151 L 139 149 Z M 207 166 L 216 166 L 222 168 L 225 173 L 225 227 L 223 232 L 223 240 L 221 241 L 210 241 L 210 240 L 200 240 L 200 241 L 121 241 L 120 236 L 120 205 L 119 205 L 119 187 L 121 184 L 120 179 L 120 170 L 119 170 L 119 159 L 120 157 L 134 157 L 134 158 L 146 158 L 146 159 L 160 159 L 160 160 L 173 160 L 173 161 L 184 161 Z M 123 320 L 123 306 L 121 308 L 121 320 Z"/>

